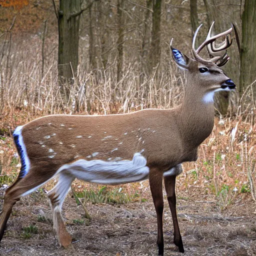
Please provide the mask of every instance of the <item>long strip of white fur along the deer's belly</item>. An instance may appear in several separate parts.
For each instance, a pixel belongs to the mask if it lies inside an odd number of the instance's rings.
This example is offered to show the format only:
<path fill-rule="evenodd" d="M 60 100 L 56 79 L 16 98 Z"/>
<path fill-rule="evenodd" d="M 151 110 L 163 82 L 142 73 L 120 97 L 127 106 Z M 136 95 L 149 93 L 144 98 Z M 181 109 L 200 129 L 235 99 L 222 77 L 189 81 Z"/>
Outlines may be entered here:
<path fill-rule="evenodd" d="M 62 165 L 57 173 L 65 171 L 78 179 L 100 184 L 123 184 L 148 178 L 146 159 L 135 153 L 132 160 L 103 161 L 78 159 Z"/>

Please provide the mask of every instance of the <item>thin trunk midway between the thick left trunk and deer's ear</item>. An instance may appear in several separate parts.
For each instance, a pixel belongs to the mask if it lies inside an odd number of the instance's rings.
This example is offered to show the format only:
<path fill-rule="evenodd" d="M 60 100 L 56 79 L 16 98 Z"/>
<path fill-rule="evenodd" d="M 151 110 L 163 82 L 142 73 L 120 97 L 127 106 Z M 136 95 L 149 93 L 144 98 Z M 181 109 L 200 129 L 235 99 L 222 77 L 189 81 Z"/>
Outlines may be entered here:
<path fill-rule="evenodd" d="M 117 38 L 117 71 L 116 80 L 120 81 L 122 77 L 122 62 L 123 62 L 123 0 L 117 0 L 117 19 L 118 19 L 118 38 Z"/>

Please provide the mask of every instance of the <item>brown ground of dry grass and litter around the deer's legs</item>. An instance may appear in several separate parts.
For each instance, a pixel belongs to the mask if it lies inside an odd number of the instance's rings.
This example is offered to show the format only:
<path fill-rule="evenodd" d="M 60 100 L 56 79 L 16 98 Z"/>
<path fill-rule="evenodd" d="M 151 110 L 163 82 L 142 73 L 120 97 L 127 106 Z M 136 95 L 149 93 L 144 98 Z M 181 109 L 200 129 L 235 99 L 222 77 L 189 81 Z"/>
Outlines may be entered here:
<path fill-rule="evenodd" d="M 220 211 L 210 196 L 200 195 L 199 190 L 189 194 L 190 197 L 183 197 L 177 191 L 184 254 L 172 243 L 171 214 L 167 200 L 164 201 L 165 255 L 256 255 L 255 203 L 250 197 L 239 198 Z M 1 188 L 1 206 L 2 199 Z M 91 215 L 90 222 L 87 225 L 73 223 L 74 219 L 84 218 L 84 211 L 70 194 L 67 195 L 63 216 L 74 243 L 64 249 L 59 247 L 53 234 L 47 196 L 34 192 L 21 198 L 13 207 L 0 243 L 0 255 L 157 255 L 156 214 L 149 191 L 145 202 L 86 203 L 86 207 Z M 44 215 L 46 221 L 38 221 L 38 215 Z M 30 224 L 37 226 L 38 232 L 24 238 L 22 227 Z"/>

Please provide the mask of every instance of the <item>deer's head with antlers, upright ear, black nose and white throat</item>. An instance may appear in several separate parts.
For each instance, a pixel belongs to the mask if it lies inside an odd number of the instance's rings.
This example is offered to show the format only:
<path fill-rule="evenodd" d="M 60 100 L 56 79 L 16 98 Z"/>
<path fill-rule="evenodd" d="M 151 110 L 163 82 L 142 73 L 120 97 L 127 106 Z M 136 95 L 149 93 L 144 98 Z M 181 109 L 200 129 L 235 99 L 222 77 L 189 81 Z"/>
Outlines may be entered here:
<path fill-rule="evenodd" d="M 173 48 L 171 46 L 172 40 L 170 42 L 172 57 L 175 63 L 178 67 L 187 71 L 187 80 L 189 84 L 185 90 L 185 94 L 189 94 L 189 96 L 194 94 L 197 98 L 199 96 L 204 102 L 213 102 L 213 94 L 216 91 L 232 90 L 235 88 L 234 82 L 219 68 L 229 59 L 229 56 L 226 53 L 226 48 L 232 43 L 230 35 L 232 27 L 222 33 L 214 35 L 213 25 L 214 21 L 209 28 L 206 39 L 197 49 L 195 49 L 194 46 L 195 39 L 202 24 L 196 29 L 192 40 L 193 58 L 190 58 L 185 54 L 182 54 L 179 50 Z M 215 40 L 222 36 L 225 36 L 224 41 L 216 44 Z M 207 50 L 211 57 L 210 59 L 204 59 L 199 56 L 199 52 L 204 46 L 207 46 Z"/>

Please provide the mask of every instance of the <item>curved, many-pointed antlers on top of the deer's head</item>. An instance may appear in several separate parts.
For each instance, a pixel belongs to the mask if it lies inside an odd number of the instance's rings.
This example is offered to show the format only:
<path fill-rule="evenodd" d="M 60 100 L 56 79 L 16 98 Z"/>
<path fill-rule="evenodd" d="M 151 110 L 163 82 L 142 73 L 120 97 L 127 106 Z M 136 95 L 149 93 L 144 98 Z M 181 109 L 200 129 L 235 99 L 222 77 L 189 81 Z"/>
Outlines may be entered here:
<path fill-rule="evenodd" d="M 212 24 L 209 28 L 206 39 L 202 42 L 202 44 L 197 49 L 195 49 L 195 47 L 194 47 L 195 39 L 196 39 L 197 33 L 198 33 L 200 27 L 202 26 L 202 24 L 200 24 L 197 27 L 197 29 L 194 33 L 194 36 L 193 36 L 192 52 L 193 52 L 195 59 L 197 59 L 197 60 L 206 61 L 206 62 L 215 62 L 217 66 L 222 66 L 229 59 L 229 56 L 226 54 L 226 51 L 224 51 L 224 53 L 223 53 L 223 50 L 228 48 L 232 43 L 232 38 L 230 35 L 230 33 L 232 31 L 232 27 L 230 27 L 228 30 L 226 30 L 222 33 L 213 35 L 213 31 L 212 31 L 213 25 L 214 25 L 214 21 L 212 22 Z M 225 40 L 223 42 L 219 43 L 218 45 L 216 45 L 215 40 L 221 36 L 225 36 Z M 210 57 L 212 57 L 210 60 L 203 59 L 202 57 L 200 57 L 198 55 L 198 53 L 201 51 L 201 49 L 205 45 L 207 45 L 209 55 L 210 55 Z"/>

